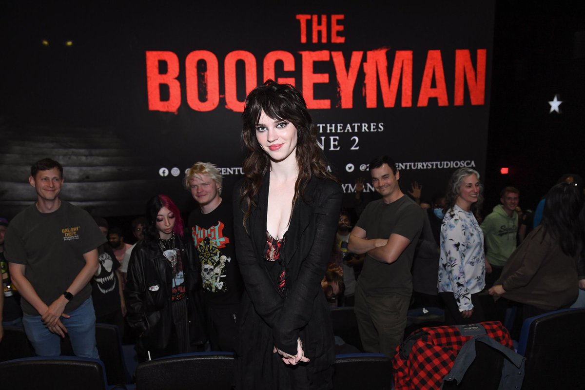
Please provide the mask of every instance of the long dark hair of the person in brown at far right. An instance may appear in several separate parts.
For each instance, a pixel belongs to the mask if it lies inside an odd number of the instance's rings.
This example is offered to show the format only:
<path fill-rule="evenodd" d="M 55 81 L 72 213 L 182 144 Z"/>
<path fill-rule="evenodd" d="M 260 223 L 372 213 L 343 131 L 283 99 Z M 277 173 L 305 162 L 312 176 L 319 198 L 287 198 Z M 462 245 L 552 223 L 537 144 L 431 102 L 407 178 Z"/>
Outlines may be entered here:
<path fill-rule="evenodd" d="M 567 256 L 583 249 L 583 190 L 574 183 L 562 182 L 546 195 L 542 225 L 545 234 L 558 241 Z"/>

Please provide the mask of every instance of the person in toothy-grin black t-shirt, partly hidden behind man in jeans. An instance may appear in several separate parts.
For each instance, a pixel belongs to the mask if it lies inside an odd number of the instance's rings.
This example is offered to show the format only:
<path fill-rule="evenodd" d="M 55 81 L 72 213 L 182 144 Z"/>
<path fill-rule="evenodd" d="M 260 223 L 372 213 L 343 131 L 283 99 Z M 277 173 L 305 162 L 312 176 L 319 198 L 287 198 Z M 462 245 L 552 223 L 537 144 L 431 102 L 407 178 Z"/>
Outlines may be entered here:
<path fill-rule="evenodd" d="M 99 230 L 108 236 L 108 221 L 94 216 Z M 122 290 L 122 275 L 118 272 L 120 263 L 116 261 L 109 245 L 98 247 L 98 270 L 91 279 L 91 297 L 94 301 L 95 322 L 118 326 L 121 337 L 124 336 L 124 316 L 126 301 Z"/>

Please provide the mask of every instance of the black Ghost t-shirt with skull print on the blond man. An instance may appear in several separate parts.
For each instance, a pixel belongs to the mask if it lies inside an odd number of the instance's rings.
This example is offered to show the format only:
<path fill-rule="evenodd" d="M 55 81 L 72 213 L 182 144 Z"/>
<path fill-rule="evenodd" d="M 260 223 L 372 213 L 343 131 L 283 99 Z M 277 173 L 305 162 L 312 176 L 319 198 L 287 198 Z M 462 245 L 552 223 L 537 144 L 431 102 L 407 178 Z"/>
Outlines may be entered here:
<path fill-rule="evenodd" d="M 191 238 L 201 262 L 205 297 L 211 303 L 238 303 L 242 277 L 233 247 L 233 214 L 229 202 L 222 201 L 211 213 L 197 208 L 188 220 Z"/>

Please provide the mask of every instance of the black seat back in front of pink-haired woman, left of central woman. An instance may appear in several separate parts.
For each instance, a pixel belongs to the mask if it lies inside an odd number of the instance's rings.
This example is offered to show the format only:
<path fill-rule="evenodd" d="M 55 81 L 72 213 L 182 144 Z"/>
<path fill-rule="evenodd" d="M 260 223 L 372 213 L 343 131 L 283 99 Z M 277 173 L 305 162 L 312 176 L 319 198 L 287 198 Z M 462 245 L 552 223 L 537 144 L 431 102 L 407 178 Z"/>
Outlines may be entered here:
<path fill-rule="evenodd" d="M 194 352 L 145 361 L 136 367 L 136 388 L 230 390 L 235 358 L 229 352 Z"/>

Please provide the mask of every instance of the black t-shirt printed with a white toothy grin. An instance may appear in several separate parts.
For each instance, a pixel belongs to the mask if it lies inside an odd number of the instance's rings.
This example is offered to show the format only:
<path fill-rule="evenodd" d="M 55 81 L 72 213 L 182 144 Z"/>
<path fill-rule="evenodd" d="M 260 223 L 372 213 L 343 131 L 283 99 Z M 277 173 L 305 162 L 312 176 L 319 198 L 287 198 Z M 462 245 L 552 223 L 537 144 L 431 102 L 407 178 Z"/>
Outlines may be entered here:
<path fill-rule="evenodd" d="M 120 287 L 116 275 L 120 263 L 107 244 L 98 249 L 98 252 L 102 252 L 98 255 L 99 274 L 91 278 L 91 298 L 94 301 L 95 316 L 101 317 L 120 308 Z"/>

